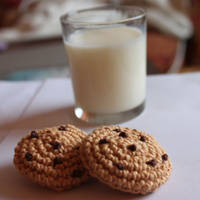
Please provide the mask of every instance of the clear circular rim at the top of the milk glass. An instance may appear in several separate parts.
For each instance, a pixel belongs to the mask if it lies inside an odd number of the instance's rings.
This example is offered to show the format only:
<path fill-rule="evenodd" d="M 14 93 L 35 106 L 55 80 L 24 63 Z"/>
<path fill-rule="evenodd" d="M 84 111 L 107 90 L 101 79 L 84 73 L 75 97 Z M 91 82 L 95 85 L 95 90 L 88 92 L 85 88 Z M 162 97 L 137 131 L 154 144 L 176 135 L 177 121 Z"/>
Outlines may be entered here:
<path fill-rule="evenodd" d="M 139 14 L 133 17 L 127 17 L 126 19 L 121 19 L 121 20 L 111 20 L 111 21 L 106 21 L 106 22 L 89 22 L 89 21 L 84 21 L 84 20 L 75 20 L 70 17 L 75 16 L 76 14 L 83 13 L 83 12 L 89 12 L 89 11 L 95 11 L 95 10 L 115 10 L 115 9 L 121 9 L 121 10 L 137 10 L 139 11 Z M 61 15 L 60 21 L 62 25 L 112 25 L 112 24 L 122 24 L 122 23 L 127 23 L 130 21 L 142 19 L 145 17 L 146 13 L 145 10 L 141 7 L 138 6 L 125 6 L 125 5 L 104 5 L 104 6 L 95 6 L 91 8 L 86 8 L 86 9 L 78 9 L 78 10 L 73 10 L 69 11 L 68 13 L 65 13 Z"/>

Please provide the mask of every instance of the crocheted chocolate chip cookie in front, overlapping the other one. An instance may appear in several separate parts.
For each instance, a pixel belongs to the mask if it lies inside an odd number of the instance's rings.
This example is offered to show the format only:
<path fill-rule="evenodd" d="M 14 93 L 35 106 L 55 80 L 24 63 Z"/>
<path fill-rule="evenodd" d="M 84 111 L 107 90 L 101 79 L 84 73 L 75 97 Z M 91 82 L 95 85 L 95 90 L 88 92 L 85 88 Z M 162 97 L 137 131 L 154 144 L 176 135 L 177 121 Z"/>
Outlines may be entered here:
<path fill-rule="evenodd" d="M 172 169 L 165 150 L 136 129 L 104 126 L 88 135 L 80 148 L 89 173 L 112 188 L 147 194 L 164 184 Z"/>

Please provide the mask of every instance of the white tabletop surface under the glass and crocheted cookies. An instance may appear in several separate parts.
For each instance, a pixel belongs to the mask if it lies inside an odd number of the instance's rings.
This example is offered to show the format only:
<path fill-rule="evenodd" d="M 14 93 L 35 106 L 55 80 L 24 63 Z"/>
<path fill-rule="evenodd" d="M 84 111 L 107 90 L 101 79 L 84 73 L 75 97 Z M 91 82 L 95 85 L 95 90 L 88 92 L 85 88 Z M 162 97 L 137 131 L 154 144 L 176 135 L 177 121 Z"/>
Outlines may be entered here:
<path fill-rule="evenodd" d="M 15 170 L 13 150 L 28 130 L 62 123 L 88 132 L 94 128 L 73 116 L 70 80 L 0 82 L 0 102 L 0 200 L 141 198 L 98 182 L 54 193 L 32 184 Z M 142 199 L 200 199 L 200 73 L 148 77 L 145 111 L 121 126 L 155 136 L 173 162 L 169 181 Z"/>

